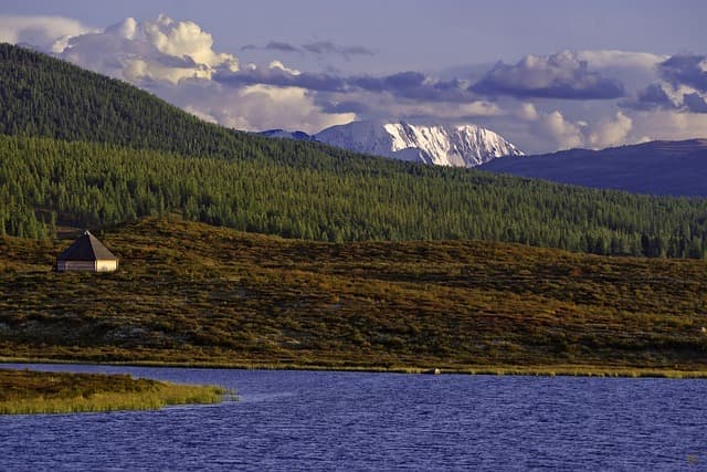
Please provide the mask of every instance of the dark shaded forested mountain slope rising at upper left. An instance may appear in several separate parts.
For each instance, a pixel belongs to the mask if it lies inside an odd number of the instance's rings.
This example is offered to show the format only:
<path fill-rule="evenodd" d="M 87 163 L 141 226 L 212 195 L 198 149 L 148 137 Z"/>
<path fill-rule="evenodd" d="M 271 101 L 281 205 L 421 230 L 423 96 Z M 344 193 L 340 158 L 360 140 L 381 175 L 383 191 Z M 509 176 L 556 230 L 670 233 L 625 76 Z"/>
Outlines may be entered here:
<path fill-rule="evenodd" d="M 203 122 L 125 82 L 0 43 L 0 134 L 104 143 L 186 156 L 347 166 L 352 153 L 266 139 Z"/>

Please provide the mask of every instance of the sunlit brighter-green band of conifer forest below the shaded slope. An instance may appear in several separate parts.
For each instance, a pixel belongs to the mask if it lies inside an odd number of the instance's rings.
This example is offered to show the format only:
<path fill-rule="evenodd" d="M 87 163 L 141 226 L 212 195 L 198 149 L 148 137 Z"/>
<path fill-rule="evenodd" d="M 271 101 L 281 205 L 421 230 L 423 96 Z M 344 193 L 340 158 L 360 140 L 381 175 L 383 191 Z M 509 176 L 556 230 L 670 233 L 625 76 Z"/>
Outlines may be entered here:
<path fill-rule="evenodd" d="M 339 174 L 0 136 L 0 235 L 46 237 L 62 224 L 95 230 L 179 212 L 333 242 L 478 239 L 606 254 L 704 255 L 705 200 L 379 164 Z"/>

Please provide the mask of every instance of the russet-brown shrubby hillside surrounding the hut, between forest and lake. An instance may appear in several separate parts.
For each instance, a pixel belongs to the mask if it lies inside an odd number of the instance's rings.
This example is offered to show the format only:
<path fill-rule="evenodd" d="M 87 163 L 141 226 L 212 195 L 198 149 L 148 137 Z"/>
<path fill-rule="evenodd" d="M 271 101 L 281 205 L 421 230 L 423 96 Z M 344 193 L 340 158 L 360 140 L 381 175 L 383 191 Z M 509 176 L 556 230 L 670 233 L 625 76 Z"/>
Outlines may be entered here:
<path fill-rule="evenodd" d="M 697 261 L 316 243 L 175 218 L 102 238 L 122 260 L 117 273 L 50 272 L 70 241 L 0 240 L 0 356 L 707 369 L 707 266 Z"/>

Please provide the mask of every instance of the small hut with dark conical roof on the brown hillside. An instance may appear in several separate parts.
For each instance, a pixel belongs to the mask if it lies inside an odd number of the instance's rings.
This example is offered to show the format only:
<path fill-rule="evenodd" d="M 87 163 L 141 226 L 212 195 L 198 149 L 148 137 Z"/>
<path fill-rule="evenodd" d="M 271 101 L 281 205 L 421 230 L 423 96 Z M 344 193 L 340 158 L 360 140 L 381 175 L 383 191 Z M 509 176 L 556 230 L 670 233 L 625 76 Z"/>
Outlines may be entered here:
<path fill-rule="evenodd" d="M 113 255 L 96 237 L 85 231 L 72 245 L 59 254 L 55 269 L 56 272 L 113 272 L 118 269 L 118 258 Z"/>

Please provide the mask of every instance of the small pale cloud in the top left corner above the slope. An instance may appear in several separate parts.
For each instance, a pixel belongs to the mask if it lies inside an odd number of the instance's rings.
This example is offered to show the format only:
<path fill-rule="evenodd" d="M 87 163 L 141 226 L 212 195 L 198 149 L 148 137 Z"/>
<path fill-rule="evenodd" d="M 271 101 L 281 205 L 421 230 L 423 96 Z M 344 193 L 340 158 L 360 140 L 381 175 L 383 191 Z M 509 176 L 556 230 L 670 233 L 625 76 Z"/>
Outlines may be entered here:
<path fill-rule="evenodd" d="M 71 18 L 0 15 L 0 42 L 59 52 L 71 36 L 91 29 Z"/>

